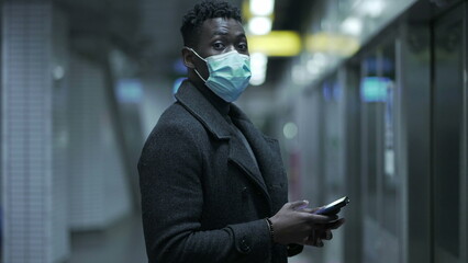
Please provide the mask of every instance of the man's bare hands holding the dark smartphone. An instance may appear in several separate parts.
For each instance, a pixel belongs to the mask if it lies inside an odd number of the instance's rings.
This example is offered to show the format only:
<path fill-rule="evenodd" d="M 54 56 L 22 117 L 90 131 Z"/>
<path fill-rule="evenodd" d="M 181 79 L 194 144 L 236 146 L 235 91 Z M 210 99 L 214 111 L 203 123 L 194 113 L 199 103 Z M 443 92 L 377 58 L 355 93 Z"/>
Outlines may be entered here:
<path fill-rule="evenodd" d="M 307 205 L 305 201 L 287 203 L 270 218 L 275 231 L 275 242 L 319 247 L 322 239 L 332 238 L 330 229 L 343 225 L 344 219 L 337 220 L 336 215 L 314 215 L 311 211 L 315 209 L 302 209 Z"/>

